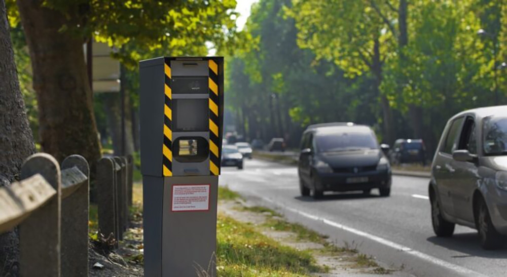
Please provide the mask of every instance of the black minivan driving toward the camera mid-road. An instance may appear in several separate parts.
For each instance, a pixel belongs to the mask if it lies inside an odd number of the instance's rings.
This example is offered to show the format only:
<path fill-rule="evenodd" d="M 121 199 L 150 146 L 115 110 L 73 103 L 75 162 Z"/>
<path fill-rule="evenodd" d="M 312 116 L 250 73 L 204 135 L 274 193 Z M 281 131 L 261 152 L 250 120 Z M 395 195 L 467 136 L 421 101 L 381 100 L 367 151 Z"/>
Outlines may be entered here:
<path fill-rule="evenodd" d="M 323 124 L 309 126 L 301 140 L 298 174 L 301 195 L 314 198 L 324 191 L 362 190 L 380 195 L 391 191 L 391 168 L 368 126 Z"/>

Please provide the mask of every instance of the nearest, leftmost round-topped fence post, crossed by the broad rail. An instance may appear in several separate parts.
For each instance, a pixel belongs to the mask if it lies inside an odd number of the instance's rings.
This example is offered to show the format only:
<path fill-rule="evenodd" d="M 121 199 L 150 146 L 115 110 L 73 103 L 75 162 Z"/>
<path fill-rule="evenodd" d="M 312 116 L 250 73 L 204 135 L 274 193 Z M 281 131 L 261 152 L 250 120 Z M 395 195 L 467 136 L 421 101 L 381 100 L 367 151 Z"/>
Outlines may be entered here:
<path fill-rule="evenodd" d="M 20 177 L 37 173 L 53 186 L 56 195 L 19 225 L 20 275 L 60 277 L 60 166 L 49 154 L 33 154 L 23 163 Z"/>

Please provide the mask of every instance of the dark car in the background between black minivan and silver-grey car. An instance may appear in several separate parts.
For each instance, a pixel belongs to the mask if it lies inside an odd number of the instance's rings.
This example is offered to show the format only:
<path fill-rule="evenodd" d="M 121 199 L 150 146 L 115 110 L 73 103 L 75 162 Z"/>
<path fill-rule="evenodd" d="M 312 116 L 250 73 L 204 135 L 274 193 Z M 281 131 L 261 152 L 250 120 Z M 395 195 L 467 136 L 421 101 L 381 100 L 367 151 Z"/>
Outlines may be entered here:
<path fill-rule="evenodd" d="M 422 139 L 397 139 L 389 152 L 392 164 L 421 163 L 426 165 L 426 147 Z"/>

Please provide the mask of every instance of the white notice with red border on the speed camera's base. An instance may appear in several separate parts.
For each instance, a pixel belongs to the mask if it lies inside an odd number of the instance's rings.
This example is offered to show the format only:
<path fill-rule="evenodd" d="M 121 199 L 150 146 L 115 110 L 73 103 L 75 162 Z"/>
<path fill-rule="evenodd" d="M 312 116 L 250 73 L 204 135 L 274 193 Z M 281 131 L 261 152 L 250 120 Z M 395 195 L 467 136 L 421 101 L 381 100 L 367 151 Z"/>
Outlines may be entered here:
<path fill-rule="evenodd" d="M 173 185 L 172 211 L 207 211 L 209 210 L 210 185 Z"/>

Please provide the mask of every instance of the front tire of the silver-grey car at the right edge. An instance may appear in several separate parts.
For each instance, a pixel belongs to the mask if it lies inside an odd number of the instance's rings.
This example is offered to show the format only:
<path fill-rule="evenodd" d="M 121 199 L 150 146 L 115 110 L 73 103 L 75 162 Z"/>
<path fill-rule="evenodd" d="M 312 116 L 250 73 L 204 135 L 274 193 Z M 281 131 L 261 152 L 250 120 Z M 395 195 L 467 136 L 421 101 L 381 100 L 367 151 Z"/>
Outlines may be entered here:
<path fill-rule="evenodd" d="M 482 248 L 485 250 L 495 250 L 505 246 L 505 236 L 495 229 L 488 207 L 483 199 L 479 200 L 477 209 L 477 230 L 479 231 Z"/>

